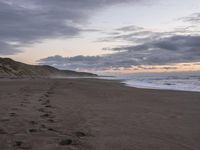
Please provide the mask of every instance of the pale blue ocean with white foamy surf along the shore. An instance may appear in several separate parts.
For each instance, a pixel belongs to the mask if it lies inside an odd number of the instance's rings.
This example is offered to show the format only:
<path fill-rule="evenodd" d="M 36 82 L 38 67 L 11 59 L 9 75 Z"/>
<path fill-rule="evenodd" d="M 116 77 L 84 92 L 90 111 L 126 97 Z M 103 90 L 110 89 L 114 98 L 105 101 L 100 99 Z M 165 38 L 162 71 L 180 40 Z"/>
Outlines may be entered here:
<path fill-rule="evenodd" d="M 121 80 L 136 88 L 200 92 L 200 72 L 140 73 L 107 79 Z"/>

